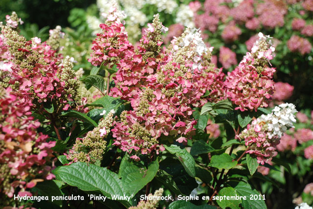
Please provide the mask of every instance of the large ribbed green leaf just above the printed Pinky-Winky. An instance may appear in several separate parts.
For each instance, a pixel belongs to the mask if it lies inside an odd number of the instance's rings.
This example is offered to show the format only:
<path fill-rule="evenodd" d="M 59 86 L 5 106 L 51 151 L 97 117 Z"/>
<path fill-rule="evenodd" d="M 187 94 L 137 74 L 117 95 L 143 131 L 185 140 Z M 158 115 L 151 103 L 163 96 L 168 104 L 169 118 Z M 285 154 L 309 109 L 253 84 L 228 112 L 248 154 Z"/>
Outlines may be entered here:
<path fill-rule="evenodd" d="M 127 195 L 118 175 L 105 167 L 77 162 L 69 166 L 57 167 L 53 170 L 57 180 L 83 191 L 100 191 L 103 195 L 112 198 L 112 195 Z M 127 201 L 120 201 L 125 207 L 131 207 Z"/>

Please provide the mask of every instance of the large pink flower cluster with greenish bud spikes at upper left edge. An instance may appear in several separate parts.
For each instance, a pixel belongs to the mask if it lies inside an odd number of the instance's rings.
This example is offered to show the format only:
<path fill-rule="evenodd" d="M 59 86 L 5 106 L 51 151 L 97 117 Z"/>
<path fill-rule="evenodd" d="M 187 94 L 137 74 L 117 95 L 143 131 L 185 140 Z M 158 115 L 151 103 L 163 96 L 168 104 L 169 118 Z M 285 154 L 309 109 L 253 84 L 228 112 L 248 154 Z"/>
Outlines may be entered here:
<path fill-rule="evenodd" d="M 53 102 L 60 109 L 75 107 L 75 102 L 80 102 L 70 58 L 61 63 L 62 55 L 56 54 L 46 42 L 37 37 L 26 41 L 8 25 L 1 27 L 1 33 L 8 50 L 5 62 L 10 64 L 10 68 L 6 66 L 3 70 L 11 72 L 7 84 L 25 94 L 29 105 L 41 111 L 44 102 Z"/>

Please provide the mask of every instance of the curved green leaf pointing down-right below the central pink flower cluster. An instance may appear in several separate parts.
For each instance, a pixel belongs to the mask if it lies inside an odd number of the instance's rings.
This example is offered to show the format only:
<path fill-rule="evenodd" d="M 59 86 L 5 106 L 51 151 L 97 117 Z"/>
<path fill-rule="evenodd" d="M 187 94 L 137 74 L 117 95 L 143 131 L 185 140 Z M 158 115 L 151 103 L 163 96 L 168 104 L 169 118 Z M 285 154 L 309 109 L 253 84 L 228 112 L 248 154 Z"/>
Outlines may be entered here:
<path fill-rule="evenodd" d="M 164 146 L 167 151 L 169 151 L 171 154 L 175 155 L 177 159 L 180 161 L 181 165 L 185 168 L 186 172 L 192 176 L 195 177 L 196 171 L 195 171 L 195 160 L 190 155 L 189 152 L 187 152 L 186 149 L 181 149 L 177 145 L 171 145 L 171 146 Z"/>

